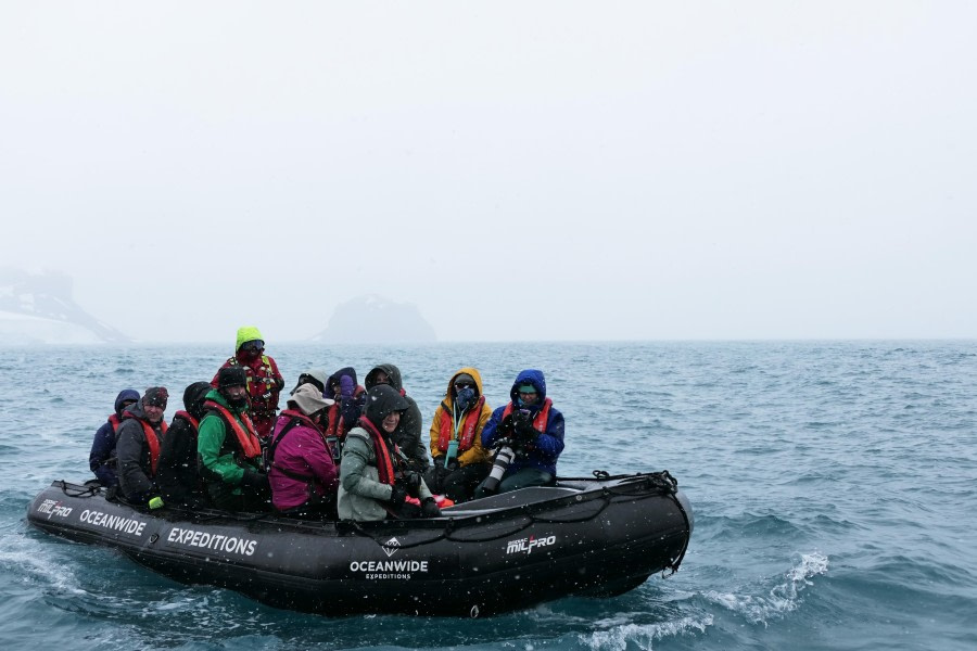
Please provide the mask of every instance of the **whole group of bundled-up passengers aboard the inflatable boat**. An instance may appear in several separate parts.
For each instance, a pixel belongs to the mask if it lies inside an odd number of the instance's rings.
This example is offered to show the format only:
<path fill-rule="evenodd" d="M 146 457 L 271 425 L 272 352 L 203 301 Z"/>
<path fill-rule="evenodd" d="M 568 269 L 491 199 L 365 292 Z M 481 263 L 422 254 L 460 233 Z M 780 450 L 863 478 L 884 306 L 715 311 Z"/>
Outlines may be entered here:
<path fill-rule="evenodd" d="M 258 329 L 239 329 L 234 350 L 210 382 L 186 387 L 169 424 L 166 387 L 119 392 L 89 456 L 110 499 L 375 521 L 434 518 L 556 481 L 563 417 L 542 371 L 521 371 L 493 410 L 479 370 L 458 369 L 424 445 L 420 408 L 392 363 L 363 385 L 352 367 L 307 370 L 279 412 L 286 383 Z"/>

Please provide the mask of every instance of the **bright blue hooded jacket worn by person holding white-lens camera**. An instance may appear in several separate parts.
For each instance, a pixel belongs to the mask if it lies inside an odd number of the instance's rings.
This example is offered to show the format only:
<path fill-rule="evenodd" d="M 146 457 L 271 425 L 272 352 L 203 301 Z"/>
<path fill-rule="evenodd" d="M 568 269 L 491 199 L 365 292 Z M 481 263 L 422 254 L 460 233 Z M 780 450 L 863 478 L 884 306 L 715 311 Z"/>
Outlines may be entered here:
<path fill-rule="evenodd" d="M 534 405 L 523 405 L 519 399 L 519 387 L 523 384 L 532 384 L 536 387 L 540 399 Z M 512 388 L 509 391 L 509 405 L 516 409 L 529 409 L 533 417 L 543 408 L 546 399 L 546 379 L 543 371 L 535 369 L 526 369 L 519 373 Z M 507 405 L 508 406 L 508 405 Z M 507 407 L 506 406 L 506 407 Z M 498 438 L 498 424 L 502 422 L 503 413 L 506 407 L 499 407 L 492 412 L 492 418 L 485 423 L 482 430 L 482 445 L 491 448 Z M 506 476 L 522 470 L 523 468 L 535 468 L 556 476 L 556 463 L 563 451 L 563 414 L 550 406 L 549 418 L 546 420 L 546 431 L 542 432 L 533 444 L 533 449 L 528 452 L 520 452 L 516 459 L 509 463 Z"/>

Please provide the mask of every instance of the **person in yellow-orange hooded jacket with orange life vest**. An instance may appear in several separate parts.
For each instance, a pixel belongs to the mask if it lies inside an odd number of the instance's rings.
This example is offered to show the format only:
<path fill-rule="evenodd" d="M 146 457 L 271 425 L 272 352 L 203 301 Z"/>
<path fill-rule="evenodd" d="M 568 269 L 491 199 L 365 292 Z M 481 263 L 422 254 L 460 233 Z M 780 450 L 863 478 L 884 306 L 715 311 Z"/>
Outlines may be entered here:
<path fill-rule="evenodd" d="M 456 503 L 467 501 L 488 476 L 492 455 L 482 447 L 482 429 L 491 416 L 479 370 L 458 369 L 431 422 L 434 465 L 424 481 L 432 493 L 444 494 Z"/>

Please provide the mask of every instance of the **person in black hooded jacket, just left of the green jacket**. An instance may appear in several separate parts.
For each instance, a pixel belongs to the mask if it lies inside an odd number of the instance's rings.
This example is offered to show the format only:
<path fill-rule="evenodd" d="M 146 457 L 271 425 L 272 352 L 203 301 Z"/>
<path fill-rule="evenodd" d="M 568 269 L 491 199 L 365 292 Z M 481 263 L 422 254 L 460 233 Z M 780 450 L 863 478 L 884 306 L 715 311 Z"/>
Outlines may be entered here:
<path fill-rule="evenodd" d="M 185 410 L 174 414 L 163 437 L 156 483 L 167 505 L 199 508 L 207 503 L 196 470 L 196 429 L 210 391 L 207 382 L 194 382 L 183 390 Z"/>

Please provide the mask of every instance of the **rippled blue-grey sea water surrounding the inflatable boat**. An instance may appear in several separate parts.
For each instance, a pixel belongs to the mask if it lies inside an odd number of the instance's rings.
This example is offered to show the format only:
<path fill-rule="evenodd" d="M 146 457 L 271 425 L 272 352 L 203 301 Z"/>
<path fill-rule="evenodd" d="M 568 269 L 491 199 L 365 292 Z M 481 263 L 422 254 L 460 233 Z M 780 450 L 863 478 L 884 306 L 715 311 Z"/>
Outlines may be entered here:
<path fill-rule="evenodd" d="M 560 473 L 668 469 L 684 564 L 612 599 L 499 617 L 275 610 L 29 528 L 52 480 L 90 477 L 116 393 L 210 380 L 221 346 L 0 349 L 4 649 L 977 649 L 977 342 L 269 344 L 309 367 L 396 363 L 428 424 L 477 366 L 492 406 L 538 368 L 567 418 Z"/>

